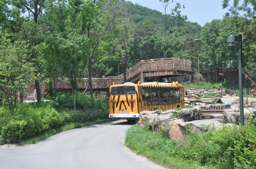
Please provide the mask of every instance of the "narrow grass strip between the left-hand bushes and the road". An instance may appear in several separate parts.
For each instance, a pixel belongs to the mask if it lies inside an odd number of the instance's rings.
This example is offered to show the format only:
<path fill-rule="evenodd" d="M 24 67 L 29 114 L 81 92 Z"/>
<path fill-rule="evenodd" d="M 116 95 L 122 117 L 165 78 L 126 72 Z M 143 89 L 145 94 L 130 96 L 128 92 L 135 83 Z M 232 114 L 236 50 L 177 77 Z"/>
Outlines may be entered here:
<path fill-rule="evenodd" d="M 96 125 L 96 124 L 105 123 L 108 121 L 111 121 L 111 120 L 110 119 L 98 119 L 98 120 L 90 121 L 90 122 L 86 122 L 86 123 L 69 123 L 67 125 L 62 126 L 61 128 L 52 129 L 52 130 L 49 130 L 41 135 L 22 140 L 20 142 L 20 144 L 23 144 L 23 145 L 35 144 L 37 142 L 40 142 L 40 141 L 46 139 L 47 137 L 50 137 L 50 136 L 52 136 L 56 133 L 62 132 L 62 131 L 72 130 L 72 129 L 80 128 L 80 127 L 84 127 L 84 126 Z"/>

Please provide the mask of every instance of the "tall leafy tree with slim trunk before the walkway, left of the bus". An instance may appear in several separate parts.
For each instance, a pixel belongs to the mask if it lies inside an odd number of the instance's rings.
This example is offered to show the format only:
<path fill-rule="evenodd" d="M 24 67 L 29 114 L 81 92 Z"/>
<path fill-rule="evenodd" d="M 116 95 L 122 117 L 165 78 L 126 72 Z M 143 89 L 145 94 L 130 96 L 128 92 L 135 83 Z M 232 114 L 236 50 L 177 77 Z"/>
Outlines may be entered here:
<path fill-rule="evenodd" d="M 47 14 L 51 19 L 48 20 L 51 30 L 46 34 L 46 44 L 52 46 L 47 48 L 57 58 L 55 63 L 59 76 L 68 77 L 76 110 L 77 80 L 84 77 L 90 45 L 84 12 L 94 8 L 94 5 L 91 1 L 70 0 L 68 4 L 61 1 L 51 8 L 54 13 Z"/>

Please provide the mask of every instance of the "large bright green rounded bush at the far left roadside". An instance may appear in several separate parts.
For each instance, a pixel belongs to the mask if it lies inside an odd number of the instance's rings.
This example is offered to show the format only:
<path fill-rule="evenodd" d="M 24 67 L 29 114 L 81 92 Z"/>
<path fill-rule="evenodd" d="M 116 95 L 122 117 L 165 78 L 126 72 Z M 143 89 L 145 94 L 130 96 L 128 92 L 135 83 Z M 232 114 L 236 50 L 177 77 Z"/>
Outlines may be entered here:
<path fill-rule="evenodd" d="M 10 115 L 0 109 L 0 132 L 8 143 L 17 143 L 49 129 L 61 126 L 60 114 L 51 105 L 22 104 L 18 111 Z"/>

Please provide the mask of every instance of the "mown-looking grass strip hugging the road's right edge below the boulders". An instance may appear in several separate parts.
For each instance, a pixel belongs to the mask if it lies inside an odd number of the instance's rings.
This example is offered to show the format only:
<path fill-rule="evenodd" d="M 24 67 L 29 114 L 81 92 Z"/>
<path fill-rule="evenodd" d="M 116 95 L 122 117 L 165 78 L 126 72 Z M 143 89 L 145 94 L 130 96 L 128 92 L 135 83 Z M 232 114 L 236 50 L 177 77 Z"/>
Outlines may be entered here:
<path fill-rule="evenodd" d="M 184 160 L 170 155 L 172 153 L 173 140 L 159 133 L 153 133 L 147 129 L 135 125 L 128 129 L 125 144 L 135 153 L 143 155 L 166 168 L 172 169 L 210 169 L 214 166 L 201 166 L 198 162 Z M 172 146 L 170 146 L 172 145 Z"/>

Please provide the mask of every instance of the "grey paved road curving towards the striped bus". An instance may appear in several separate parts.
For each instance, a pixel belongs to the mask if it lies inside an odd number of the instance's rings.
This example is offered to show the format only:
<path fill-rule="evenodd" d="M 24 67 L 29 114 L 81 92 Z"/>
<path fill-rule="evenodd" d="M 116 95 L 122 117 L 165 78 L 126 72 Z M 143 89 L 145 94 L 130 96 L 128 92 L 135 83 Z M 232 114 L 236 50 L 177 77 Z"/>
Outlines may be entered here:
<path fill-rule="evenodd" d="M 122 143 L 132 124 L 118 120 L 58 133 L 28 146 L 0 149 L 0 169 L 164 169 Z"/>

